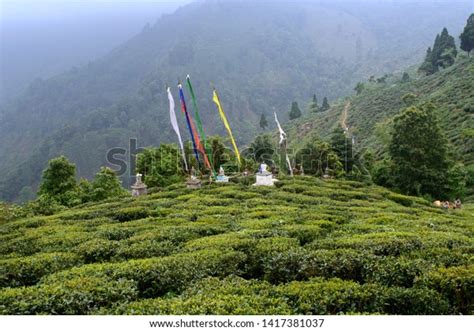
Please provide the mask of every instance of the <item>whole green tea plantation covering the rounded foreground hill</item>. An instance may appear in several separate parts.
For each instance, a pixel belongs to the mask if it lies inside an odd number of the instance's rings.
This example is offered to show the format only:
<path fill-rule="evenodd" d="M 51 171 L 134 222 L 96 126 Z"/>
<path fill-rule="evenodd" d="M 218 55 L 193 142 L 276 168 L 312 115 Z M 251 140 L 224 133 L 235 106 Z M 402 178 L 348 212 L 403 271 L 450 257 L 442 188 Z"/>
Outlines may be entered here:
<path fill-rule="evenodd" d="M 282 179 L 0 225 L 0 314 L 473 314 L 474 206 Z"/>

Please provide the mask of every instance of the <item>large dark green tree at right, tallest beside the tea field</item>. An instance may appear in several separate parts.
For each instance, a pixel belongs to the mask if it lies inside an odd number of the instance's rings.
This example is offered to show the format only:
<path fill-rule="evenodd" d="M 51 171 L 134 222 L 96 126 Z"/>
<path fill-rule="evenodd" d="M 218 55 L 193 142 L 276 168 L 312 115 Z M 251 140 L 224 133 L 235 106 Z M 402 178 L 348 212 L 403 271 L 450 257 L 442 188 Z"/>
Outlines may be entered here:
<path fill-rule="evenodd" d="M 400 191 L 443 195 L 449 169 L 448 145 L 434 106 L 412 106 L 394 118 L 389 154 L 393 184 Z"/>

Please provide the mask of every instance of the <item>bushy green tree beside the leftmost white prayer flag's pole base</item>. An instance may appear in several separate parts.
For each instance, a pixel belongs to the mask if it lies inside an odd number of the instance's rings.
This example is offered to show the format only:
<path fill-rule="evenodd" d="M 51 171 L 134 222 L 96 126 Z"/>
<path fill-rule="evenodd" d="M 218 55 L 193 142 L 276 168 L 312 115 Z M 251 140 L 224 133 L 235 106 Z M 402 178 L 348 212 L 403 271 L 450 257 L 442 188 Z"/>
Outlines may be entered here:
<path fill-rule="evenodd" d="M 174 144 L 146 148 L 138 154 L 137 171 L 148 187 L 164 187 L 182 180 L 181 153 Z"/>

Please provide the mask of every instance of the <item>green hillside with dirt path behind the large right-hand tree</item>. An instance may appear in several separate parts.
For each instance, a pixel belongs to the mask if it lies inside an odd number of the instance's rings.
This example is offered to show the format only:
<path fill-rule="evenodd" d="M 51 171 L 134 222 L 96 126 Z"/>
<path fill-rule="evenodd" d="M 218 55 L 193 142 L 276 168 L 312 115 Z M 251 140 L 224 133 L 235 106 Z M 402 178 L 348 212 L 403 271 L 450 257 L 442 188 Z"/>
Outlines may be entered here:
<path fill-rule="evenodd" d="M 361 82 L 360 94 L 338 100 L 326 112 L 306 113 L 289 123 L 290 141 L 293 138 L 294 145 L 301 145 L 315 136 L 327 138 L 345 122 L 355 138 L 356 151 L 368 148 L 380 155 L 390 138 L 390 120 L 407 107 L 408 97 L 414 105 L 433 103 L 456 159 L 473 165 L 474 58 L 458 59 L 430 76 L 411 74 L 407 81 L 399 74 L 379 82 L 377 78 Z"/>

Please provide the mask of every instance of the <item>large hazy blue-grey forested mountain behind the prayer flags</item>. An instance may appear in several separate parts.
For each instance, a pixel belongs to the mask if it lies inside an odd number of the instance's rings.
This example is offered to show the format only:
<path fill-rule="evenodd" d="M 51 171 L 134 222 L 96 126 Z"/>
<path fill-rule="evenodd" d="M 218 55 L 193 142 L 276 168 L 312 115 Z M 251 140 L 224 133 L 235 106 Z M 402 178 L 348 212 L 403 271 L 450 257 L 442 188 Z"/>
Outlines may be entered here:
<path fill-rule="evenodd" d="M 223 132 L 210 98 L 211 84 L 219 88 L 242 145 L 262 112 L 286 113 L 313 93 L 335 99 L 364 77 L 419 62 L 440 27 L 458 34 L 470 10 L 342 6 L 198 2 L 87 66 L 36 81 L 0 110 L 0 199 L 30 196 L 58 154 L 91 177 L 106 151 L 127 148 L 131 137 L 141 146 L 174 140 L 164 87 L 178 77 L 191 75 L 208 133 Z"/>

